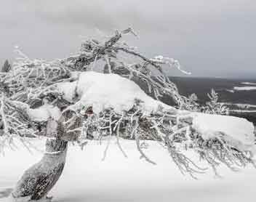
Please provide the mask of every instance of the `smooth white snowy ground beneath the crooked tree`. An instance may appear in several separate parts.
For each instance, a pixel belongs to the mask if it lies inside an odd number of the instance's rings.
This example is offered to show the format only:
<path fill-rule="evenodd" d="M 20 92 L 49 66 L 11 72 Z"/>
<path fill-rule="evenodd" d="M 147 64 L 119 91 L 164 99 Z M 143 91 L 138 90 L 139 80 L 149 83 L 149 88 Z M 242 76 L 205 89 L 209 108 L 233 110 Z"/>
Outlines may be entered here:
<path fill-rule="evenodd" d="M 213 177 L 212 171 L 200 175 L 199 180 L 183 176 L 168 153 L 154 142 L 145 150 L 158 164 L 139 159 L 132 140 L 121 141 L 128 158 L 111 142 L 107 158 L 102 161 L 106 142 L 89 142 L 85 150 L 70 146 L 67 163 L 57 185 L 52 190 L 55 202 L 94 201 L 232 201 L 255 200 L 256 169 L 251 167 L 233 173 L 220 168 L 223 179 Z M 43 147 L 43 141 L 36 141 Z M 20 147 L 7 150 L 0 156 L 0 193 L 13 187 L 28 166 L 39 161 L 41 153 L 33 155 Z M 7 198 L 0 198 L 1 202 Z"/>

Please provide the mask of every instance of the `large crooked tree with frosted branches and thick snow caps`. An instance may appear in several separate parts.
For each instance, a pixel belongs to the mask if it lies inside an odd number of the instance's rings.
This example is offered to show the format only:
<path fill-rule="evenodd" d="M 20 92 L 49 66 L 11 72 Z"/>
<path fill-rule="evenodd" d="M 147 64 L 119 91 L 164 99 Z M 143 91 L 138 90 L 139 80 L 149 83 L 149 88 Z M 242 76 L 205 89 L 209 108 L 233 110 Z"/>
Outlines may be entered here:
<path fill-rule="evenodd" d="M 217 174 L 220 163 L 236 171 L 254 165 L 254 126 L 243 118 L 218 115 L 212 92 L 209 110 L 195 112 L 195 97 L 184 97 L 164 73 L 164 68 L 180 68 L 177 60 L 148 58 L 137 48 L 121 41 L 131 28 L 116 31 L 101 41 L 91 39 L 78 54 L 62 60 L 31 60 L 20 57 L 12 69 L 0 73 L 0 152 L 15 147 L 19 140 L 29 150 L 31 138 L 47 137 L 44 157 L 25 171 L 12 191 L 14 200 L 40 200 L 57 182 L 65 165 L 68 142 L 84 148 L 89 140 L 116 137 L 132 139 L 140 157 L 155 164 L 141 140 L 155 140 L 168 150 L 183 174 L 203 173 L 185 155 L 193 150 Z M 184 72 L 184 71 L 183 71 Z M 145 84 L 149 94 L 136 83 Z M 161 102 L 168 96 L 175 103 Z M 223 109 L 223 110 L 215 110 Z M 109 145 L 109 144 L 108 144 Z M 108 146 L 105 148 L 106 155 Z"/>

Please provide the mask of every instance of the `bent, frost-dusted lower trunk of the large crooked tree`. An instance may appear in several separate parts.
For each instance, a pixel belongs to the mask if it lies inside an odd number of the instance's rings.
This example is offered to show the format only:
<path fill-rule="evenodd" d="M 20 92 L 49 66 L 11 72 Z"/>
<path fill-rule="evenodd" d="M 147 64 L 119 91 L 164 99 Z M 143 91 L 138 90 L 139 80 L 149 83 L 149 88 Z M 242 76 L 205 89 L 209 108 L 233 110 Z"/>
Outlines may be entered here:
<path fill-rule="evenodd" d="M 17 182 L 12 197 L 28 198 L 28 200 L 47 198 L 47 193 L 63 172 L 67 149 L 68 142 L 64 140 L 47 140 L 43 158 L 25 171 Z"/>

